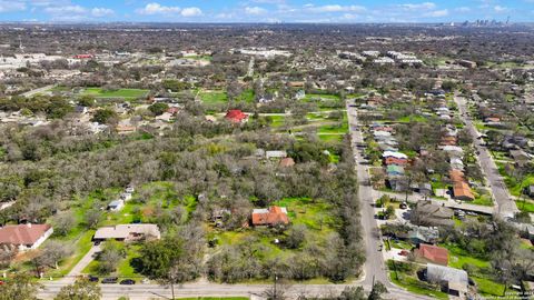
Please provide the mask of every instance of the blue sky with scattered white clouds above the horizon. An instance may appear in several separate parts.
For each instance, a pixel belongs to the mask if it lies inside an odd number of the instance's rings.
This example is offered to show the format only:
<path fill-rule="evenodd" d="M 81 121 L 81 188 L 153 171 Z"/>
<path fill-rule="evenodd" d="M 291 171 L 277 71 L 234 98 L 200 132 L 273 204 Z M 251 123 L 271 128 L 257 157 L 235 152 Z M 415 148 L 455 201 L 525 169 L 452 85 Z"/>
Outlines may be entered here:
<path fill-rule="evenodd" d="M 0 21 L 534 21 L 534 0 L 0 0 Z"/>

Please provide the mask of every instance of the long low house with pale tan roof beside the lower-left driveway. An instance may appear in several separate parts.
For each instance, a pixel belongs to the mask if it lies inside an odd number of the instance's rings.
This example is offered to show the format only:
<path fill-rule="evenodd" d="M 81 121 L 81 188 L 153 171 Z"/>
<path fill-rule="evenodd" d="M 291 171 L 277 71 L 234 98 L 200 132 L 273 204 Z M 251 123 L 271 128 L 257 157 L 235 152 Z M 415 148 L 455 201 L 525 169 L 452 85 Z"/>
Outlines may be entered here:
<path fill-rule="evenodd" d="M 118 240 L 136 241 L 141 239 L 160 239 L 161 233 L 157 224 L 118 224 L 102 227 L 95 232 L 93 241 Z"/>

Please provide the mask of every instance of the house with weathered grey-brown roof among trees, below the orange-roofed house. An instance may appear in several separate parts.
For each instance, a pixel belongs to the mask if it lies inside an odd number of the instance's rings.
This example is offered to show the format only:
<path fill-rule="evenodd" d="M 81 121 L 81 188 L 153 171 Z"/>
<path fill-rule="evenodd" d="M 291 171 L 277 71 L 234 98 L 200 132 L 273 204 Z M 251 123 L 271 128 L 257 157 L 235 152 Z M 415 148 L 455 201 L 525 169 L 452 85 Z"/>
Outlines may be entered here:
<path fill-rule="evenodd" d="M 417 226 L 454 226 L 454 211 L 432 201 L 419 201 L 412 211 L 411 221 Z"/>

